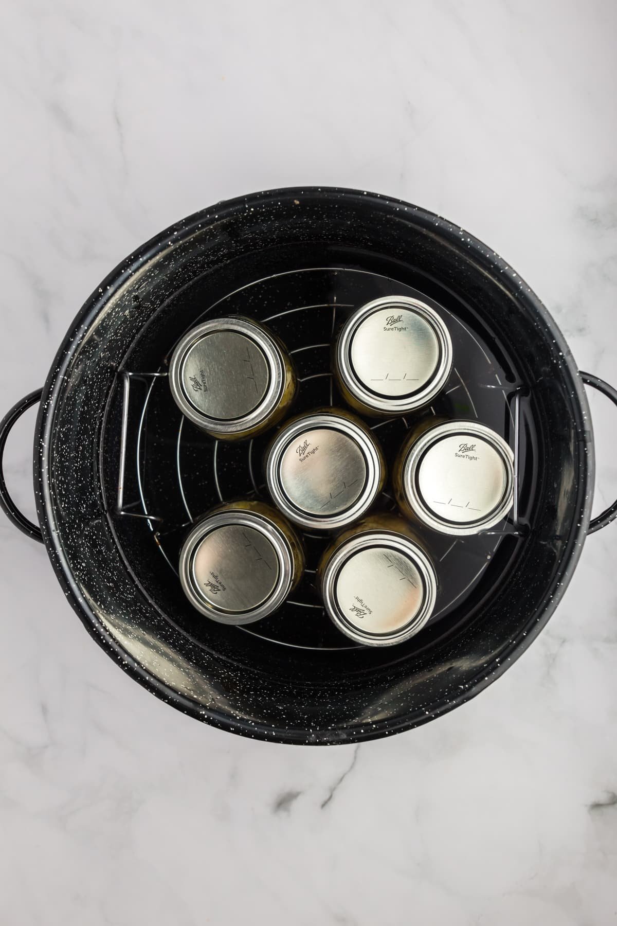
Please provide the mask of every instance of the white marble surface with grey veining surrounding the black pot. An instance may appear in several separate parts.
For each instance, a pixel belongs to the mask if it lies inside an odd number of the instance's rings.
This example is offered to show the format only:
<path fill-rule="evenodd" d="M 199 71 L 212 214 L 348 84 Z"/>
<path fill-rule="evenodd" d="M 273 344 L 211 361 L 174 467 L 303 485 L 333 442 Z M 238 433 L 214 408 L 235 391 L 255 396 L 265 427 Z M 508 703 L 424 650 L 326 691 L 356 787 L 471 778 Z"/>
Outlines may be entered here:
<path fill-rule="evenodd" d="M 462 224 L 615 381 L 611 0 L 3 6 L 4 407 L 93 286 L 218 199 L 339 184 Z M 617 416 L 594 401 L 598 510 Z M 31 510 L 33 416 L 11 440 Z M 0 520 L 0 921 L 603 926 L 617 918 L 617 524 L 474 701 L 389 741 L 253 743 L 131 682 Z"/>

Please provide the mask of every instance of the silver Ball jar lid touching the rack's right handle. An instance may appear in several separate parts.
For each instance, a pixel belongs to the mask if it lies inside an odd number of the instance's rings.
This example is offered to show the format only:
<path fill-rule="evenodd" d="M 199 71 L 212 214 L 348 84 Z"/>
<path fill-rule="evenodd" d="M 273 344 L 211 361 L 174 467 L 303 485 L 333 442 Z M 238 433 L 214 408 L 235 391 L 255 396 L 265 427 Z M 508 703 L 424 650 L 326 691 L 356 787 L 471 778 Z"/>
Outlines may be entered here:
<path fill-rule="evenodd" d="M 514 455 L 486 425 L 448 421 L 413 442 L 402 463 L 401 488 L 416 517 L 434 531 L 486 531 L 512 507 Z"/>

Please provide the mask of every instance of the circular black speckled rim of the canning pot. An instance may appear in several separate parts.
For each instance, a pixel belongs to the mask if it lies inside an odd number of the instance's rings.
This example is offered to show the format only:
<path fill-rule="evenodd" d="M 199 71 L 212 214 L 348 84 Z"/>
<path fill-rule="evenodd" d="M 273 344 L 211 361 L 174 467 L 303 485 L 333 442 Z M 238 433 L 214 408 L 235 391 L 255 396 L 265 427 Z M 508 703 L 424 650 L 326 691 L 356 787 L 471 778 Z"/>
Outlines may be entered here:
<path fill-rule="evenodd" d="M 439 702 L 429 705 L 429 709 L 416 708 L 401 719 L 377 720 L 375 724 L 358 724 L 357 727 L 347 728 L 346 731 L 336 731 L 328 729 L 316 729 L 308 731 L 297 728 L 275 728 L 265 724 L 259 724 L 254 721 L 250 723 L 222 714 L 214 709 L 200 707 L 190 698 L 179 694 L 164 682 L 155 678 L 154 675 L 144 669 L 135 659 L 117 644 L 114 637 L 106 631 L 105 627 L 98 619 L 90 607 L 87 600 L 80 594 L 79 587 L 73 577 L 68 557 L 65 556 L 62 546 L 59 542 L 59 532 L 55 530 L 56 520 L 54 517 L 54 507 L 52 502 L 52 492 L 49 482 L 50 473 L 50 447 L 51 432 L 54 427 L 56 406 L 58 397 L 62 390 L 64 373 L 68 368 L 73 353 L 80 344 L 83 334 L 87 331 L 93 320 L 97 317 L 101 309 L 108 300 L 117 293 L 117 290 L 123 286 L 134 273 L 142 269 L 150 261 L 162 254 L 169 248 L 170 242 L 174 244 L 182 243 L 191 234 L 198 232 L 204 224 L 216 219 L 222 220 L 247 208 L 258 205 L 265 205 L 281 198 L 300 198 L 303 195 L 310 195 L 314 199 L 332 199 L 344 198 L 346 200 L 356 200 L 360 203 L 370 203 L 377 208 L 387 208 L 394 213 L 400 213 L 397 218 L 403 219 L 405 213 L 409 213 L 409 218 L 413 220 L 425 232 L 438 236 L 450 244 L 452 247 L 464 248 L 475 262 L 485 270 L 485 272 L 494 275 L 497 270 L 500 273 L 500 282 L 505 285 L 506 281 L 511 284 L 512 291 L 518 292 L 528 306 L 537 313 L 538 319 L 541 319 L 543 325 L 549 330 L 555 342 L 555 348 L 561 351 L 562 375 L 566 371 L 569 374 L 570 385 L 572 387 L 573 400 L 581 410 L 581 419 L 585 419 L 585 428 L 581 427 L 579 445 L 582 446 L 582 453 L 577 459 L 578 480 L 576 490 L 576 510 L 580 513 L 579 517 L 573 519 L 573 526 L 570 534 L 564 544 L 561 554 L 563 568 L 553 577 L 552 583 L 547 586 L 544 592 L 542 606 L 537 606 L 536 612 L 531 615 L 527 623 L 522 626 L 518 634 L 512 637 L 509 646 L 500 650 L 500 655 L 494 657 L 488 666 L 484 666 L 475 679 L 470 682 L 468 687 L 459 694 L 453 694 L 448 701 Z M 47 375 L 43 386 L 43 396 L 37 416 L 34 432 L 34 450 L 33 450 L 33 481 L 34 494 L 36 500 L 36 512 L 41 531 L 43 533 L 43 543 L 51 559 L 52 566 L 56 572 L 56 578 L 63 588 L 68 602 L 74 611 L 80 617 L 88 632 L 93 639 L 105 649 L 105 652 L 114 658 L 121 669 L 128 672 L 135 681 L 140 682 L 148 691 L 156 694 L 161 700 L 167 702 L 172 707 L 176 707 L 183 713 L 202 720 L 208 724 L 218 727 L 219 729 L 235 732 L 243 736 L 249 736 L 252 739 L 259 739 L 266 742 L 275 742 L 280 744 L 298 744 L 298 745 L 348 745 L 350 743 L 361 743 L 368 740 L 378 739 L 385 735 L 397 732 L 411 730 L 413 727 L 420 726 L 428 720 L 433 720 L 443 714 L 448 713 L 455 707 L 460 707 L 466 701 L 469 701 L 476 694 L 479 694 L 487 685 L 499 678 L 505 669 L 512 662 L 520 657 L 529 644 L 537 637 L 548 622 L 553 611 L 561 601 L 561 595 L 565 591 L 568 582 L 572 578 L 574 569 L 581 555 L 583 544 L 585 543 L 587 528 L 593 503 L 593 486 L 594 486 L 594 441 L 589 415 L 584 385 L 578 375 L 578 369 L 574 363 L 574 357 L 568 347 L 561 331 L 550 316 L 548 309 L 543 305 L 537 295 L 522 280 L 509 264 L 506 263 L 499 255 L 492 251 L 486 244 L 475 238 L 474 235 L 464 231 L 459 226 L 443 219 L 436 213 L 430 212 L 420 206 L 413 206 L 401 199 L 394 197 L 369 193 L 366 191 L 355 190 L 346 187 L 283 187 L 279 189 L 247 194 L 235 197 L 233 199 L 222 200 L 214 206 L 209 206 L 198 212 L 193 213 L 186 219 L 180 219 L 165 231 L 156 234 L 140 248 L 135 250 L 129 257 L 120 261 L 117 267 L 107 274 L 93 293 L 86 299 L 80 308 L 76 317 L 68 327 L 68 332 L 60 344 L 54 362 Z"/>

